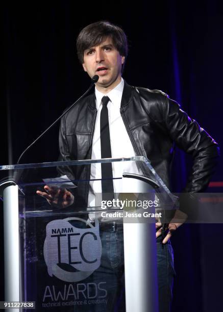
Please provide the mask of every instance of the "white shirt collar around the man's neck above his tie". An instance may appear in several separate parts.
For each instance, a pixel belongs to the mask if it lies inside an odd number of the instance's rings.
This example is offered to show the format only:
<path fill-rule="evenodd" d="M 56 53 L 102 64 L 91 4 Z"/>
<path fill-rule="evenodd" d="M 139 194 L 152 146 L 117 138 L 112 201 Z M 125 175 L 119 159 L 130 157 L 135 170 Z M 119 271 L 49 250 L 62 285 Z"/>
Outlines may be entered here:
<path fill-rule="evenodd" d="M 111 102 L 114 103 L 114 105 L 119 105 L 120 107 L 123 88 L 124 88 L 124 80 L 122 79 L 122 77 L 120 83 L 107 94 L 104 94 L 98 91 L 97 88 L 95 88 L 96 109 L 98 110 L 98 108 L 100 107 L 103 96 L 108 96 Z"/>

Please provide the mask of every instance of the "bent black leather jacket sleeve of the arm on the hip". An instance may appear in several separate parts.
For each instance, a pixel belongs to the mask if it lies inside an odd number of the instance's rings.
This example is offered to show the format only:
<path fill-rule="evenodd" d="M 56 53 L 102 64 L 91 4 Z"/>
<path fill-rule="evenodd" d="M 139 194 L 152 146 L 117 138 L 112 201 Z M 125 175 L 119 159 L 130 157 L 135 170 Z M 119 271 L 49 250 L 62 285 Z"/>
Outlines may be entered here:
<path fill-rule="evenodd" d="M 180 109 L 176 101 L 165 96 L 162 107 L 169 136 L 193 159 L 192 171 L 183 192 L 202 192 L 207 188 L 217 165 L 219 147 L 195 120 Z"/>

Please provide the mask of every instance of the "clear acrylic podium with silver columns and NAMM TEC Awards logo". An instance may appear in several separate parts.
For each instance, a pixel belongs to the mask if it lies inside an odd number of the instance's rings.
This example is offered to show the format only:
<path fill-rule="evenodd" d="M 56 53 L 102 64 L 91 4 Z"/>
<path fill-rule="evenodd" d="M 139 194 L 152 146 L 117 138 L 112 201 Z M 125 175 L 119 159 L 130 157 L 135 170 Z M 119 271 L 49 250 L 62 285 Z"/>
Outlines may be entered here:
<path fill-rule="evenodd" d="M 103 162 L 116 168 L 113 201 L 95 178 Z M 90 168 L 94 179 L 82 179 Z M 0 174 L 5 301 L 35 301 L 37 311 L 158 312 L 155 217 L 165 222 L 176 198 L 149 161 L 7 165 Z M 44 185 L 66 188 L 75 201 L 50 205 L 36 194 Z"/>

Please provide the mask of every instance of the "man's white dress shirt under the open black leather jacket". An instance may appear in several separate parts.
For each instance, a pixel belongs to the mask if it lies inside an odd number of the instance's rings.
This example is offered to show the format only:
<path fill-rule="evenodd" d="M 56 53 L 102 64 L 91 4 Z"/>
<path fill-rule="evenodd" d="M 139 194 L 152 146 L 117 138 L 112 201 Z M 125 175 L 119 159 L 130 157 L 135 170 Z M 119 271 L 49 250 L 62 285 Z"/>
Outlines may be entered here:
<path fill-rule="evenodd" d="M 95 88 L 96 96 L 96 109 L 97 116 L 95 120 L 95 128 L 92 142 L 92 154 L 91 159 L 101 159 L 101 139 L 100 139 L 100 114 L 102 110 L 102 98 L 108 96 L 110 101 L 108 102 L 108 118 L 109 118 L 109 132 L 111 141 L 111 154 L 112 158 L 129 158 L 135 156 L 130 137 L 127 133 L 125 124 L 123 123 L 120 106 L 121 97 L 124 87 L 124 81 L 121 78 L 121 82 L 109 93 L 103 94 Z M 114 179 L 114 193 L 122 192 L 122 173 L 131 172 L 140 174 L 140 169 L 135 162 L 115 162 L 112 164 L 112 173 Z M 102 184 L 100 179 L 102 178 L 101 164 L 91 164 L 90 172 L 90 192 L 88 197 L 88 206 L 95 206 L 94 194 L 102 193 Z M 99 180 L 94 180 L 99 179 Z"/>

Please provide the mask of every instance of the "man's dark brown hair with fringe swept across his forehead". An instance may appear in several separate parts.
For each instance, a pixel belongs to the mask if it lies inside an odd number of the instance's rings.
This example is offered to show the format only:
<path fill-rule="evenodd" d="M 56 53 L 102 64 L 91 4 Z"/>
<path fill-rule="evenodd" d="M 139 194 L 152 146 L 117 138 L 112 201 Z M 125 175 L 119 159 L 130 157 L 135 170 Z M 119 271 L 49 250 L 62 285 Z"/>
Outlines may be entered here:
<path fill-rule="evenodd" d="M 111 38 L 112 43 L 118 50 L 119 54 L 121 56 L 127 57 L 128 41 L 124 31 L 120 27 L 110 23 L 109 21 L 98 21 L 87 25 L 78 35 L 77 52 L 80 63 L 84 63 L 84 51 L 86 49 L 102 43 L 107 37 Z M 125 65 L 125 63 L 123 65 Z"/>

